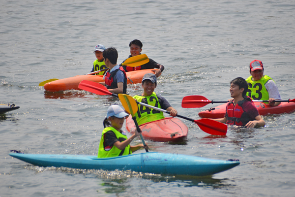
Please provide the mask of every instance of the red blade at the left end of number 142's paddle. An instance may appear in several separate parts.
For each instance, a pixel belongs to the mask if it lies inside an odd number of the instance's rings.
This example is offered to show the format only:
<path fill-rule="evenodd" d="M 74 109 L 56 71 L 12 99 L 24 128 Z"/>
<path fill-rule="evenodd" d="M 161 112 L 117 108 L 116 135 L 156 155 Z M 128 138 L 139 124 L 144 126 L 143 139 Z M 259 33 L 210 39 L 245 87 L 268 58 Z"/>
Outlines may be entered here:
<path fill-rule="evenodd" d="M 112 95 L 105 86 L 93 81 L 83 80 L 80 82 L 78 88 L 97 95 Z"/>

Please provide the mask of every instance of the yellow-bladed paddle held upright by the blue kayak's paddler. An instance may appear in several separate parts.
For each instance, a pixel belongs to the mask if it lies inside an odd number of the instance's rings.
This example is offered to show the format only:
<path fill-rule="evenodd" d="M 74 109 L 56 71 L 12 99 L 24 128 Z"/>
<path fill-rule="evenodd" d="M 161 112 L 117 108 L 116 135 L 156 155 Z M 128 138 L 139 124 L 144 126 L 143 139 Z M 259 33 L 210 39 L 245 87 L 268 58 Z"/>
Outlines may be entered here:
<path fill-rule="evenodd" d="M 138 123 L 136 121 L 135 113 L 138 111 L 138 105 L 137 105 L 136 101 L 131 96 L 125 95 L 125 94 L 119 94 L 118 97 L 119 97 L 123 107 L 125 108 L 125 110 L 128 111 L 129 114 L 131 114 L 132 120 L 134 121 L 134 124 L 136 126 L 136 130 L 137 130 L 137 132 L 140 133 L 140 138 L 141 138 L 144 146 L 146 146 L 144 137 L 141 134 L 141 130 L 140 130 Z M 148 152 L 148 149 L 146 149 L 146 152 Z"/>

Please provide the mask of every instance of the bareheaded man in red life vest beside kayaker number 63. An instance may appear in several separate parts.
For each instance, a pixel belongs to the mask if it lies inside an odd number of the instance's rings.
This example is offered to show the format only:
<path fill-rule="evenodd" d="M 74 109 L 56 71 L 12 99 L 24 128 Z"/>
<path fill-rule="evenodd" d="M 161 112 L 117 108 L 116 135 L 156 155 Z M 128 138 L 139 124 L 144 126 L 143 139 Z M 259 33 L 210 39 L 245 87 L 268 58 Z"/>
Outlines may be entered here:
<path fill-rule="evenodd" d="M 229 125 L 245 126 L 246 128 L 265 126 L 266 123 L 259 115 L 258 109 L 253 101 L 250 97 L 246 96 L 247 91 L 248 83 L 245 79 L 237 77 L 232 80 L 230 93 L 234 100 L 227 104 L 224 118 L 214 120 Z"/>

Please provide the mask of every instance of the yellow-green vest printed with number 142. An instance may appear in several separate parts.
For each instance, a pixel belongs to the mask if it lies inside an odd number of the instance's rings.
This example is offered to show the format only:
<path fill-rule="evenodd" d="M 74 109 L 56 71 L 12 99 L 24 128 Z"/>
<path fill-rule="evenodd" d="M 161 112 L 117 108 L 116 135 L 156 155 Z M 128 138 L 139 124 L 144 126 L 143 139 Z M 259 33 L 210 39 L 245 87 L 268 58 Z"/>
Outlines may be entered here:
<path fill-rule="evenodd" d="M 137 99 L 138 102 L 143 102 L 148 105 L 152 105 L 152 106 L 161 108 L 161 105 L 160 105 L 157 95 L 155 93 L 152 93 L 149 97 L 135 95 L 133 98 Z M 138 111 L 135 114 L 135 116 L 136 116 L 136 120 L 138 122 L 138 125 L 142 125 L 142 124 L 145 124 L 145 123 L 148 123 L 151 121 L 161 120 L 161 119 L 165 118 L 163 115 L 163 112 L 148 108 L 148 107 L 140 105 L 140 104 L 138 104 Z"/>

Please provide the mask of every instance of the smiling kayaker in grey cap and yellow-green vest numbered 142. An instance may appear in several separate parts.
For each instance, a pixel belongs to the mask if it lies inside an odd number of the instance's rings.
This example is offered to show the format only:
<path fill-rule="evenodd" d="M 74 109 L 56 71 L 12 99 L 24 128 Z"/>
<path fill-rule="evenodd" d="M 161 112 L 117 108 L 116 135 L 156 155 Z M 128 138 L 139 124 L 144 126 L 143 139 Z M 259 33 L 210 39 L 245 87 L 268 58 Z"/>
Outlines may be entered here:
<path fill-rule="evenodd" d="M 170 116 L 177 115 L 177 110 L 174 109 L 164 97 L 160 97 L 153 92 L 157 87 L 157 77 L 155 74 L 145 74 L 142 79 L 142 87 L 144 92 L 141 94 L 141 96 L 135 95 L 133 97 L 134 99 L 139 102 L 170 111 Z M 139 125 L 165 118 L 163 112 L 161 111 L 150 109 L 142 105 L 138 105 L 138 109 L 139 110 L 135 116 Z"/>

